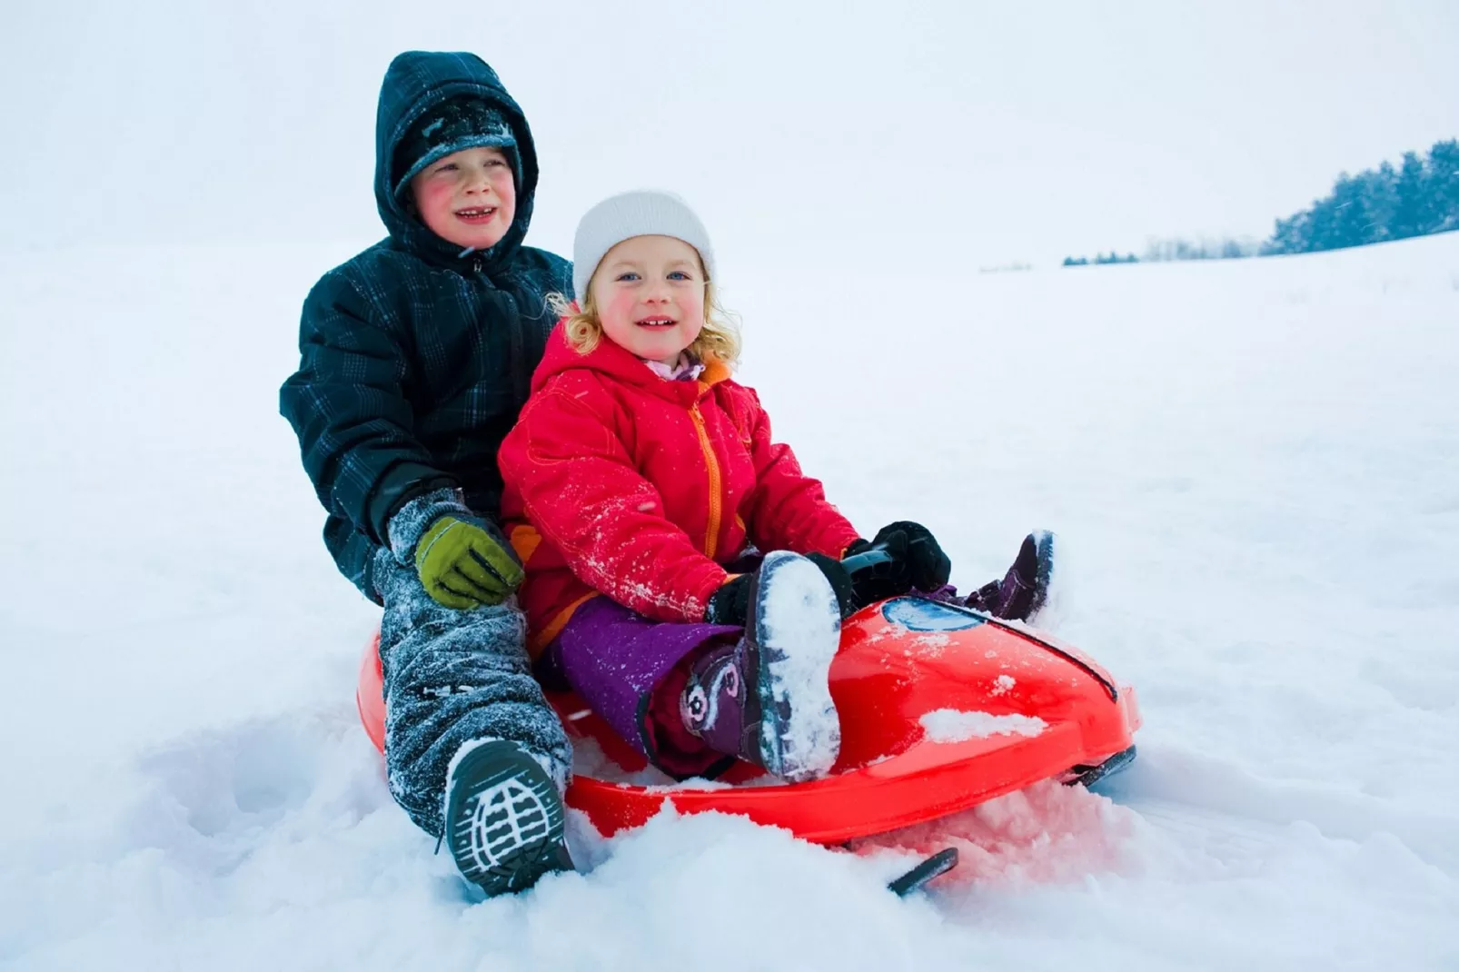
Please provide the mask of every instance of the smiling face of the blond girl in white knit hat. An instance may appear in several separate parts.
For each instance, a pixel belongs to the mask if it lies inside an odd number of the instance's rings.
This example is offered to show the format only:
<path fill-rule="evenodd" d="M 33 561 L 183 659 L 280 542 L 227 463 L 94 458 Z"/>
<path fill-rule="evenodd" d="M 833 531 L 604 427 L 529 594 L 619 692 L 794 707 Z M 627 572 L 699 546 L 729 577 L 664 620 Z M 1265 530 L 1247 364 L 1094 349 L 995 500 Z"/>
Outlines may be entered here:
<path fill-rule="evenodd" d="M 588 288 L 603 333 L 645 360 L 673 365 L 705 327 L 705 270 L 683 239 L 624 239 L 604 254 Z"/>

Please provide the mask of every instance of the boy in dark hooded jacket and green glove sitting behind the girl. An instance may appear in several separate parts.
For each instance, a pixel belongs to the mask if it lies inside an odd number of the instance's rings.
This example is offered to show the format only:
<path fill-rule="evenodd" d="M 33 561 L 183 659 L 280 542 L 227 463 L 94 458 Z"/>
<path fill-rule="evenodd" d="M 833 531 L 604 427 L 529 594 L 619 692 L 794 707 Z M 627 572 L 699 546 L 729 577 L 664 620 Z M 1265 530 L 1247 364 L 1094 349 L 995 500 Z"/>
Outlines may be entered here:
<path fill-rule="evenodd" d="M 496 527 L 496 451 L 527 400 L 572 264 L 522 245 L 537 153 L 474 54 L 385 73 L 375 201 L 390 236 L 303 304 L 280 410 L 328 511 L 340 571 L 384 604 L 390 790 L 487 895 L 572 867 L 570 749 L 533 679 Z"/>

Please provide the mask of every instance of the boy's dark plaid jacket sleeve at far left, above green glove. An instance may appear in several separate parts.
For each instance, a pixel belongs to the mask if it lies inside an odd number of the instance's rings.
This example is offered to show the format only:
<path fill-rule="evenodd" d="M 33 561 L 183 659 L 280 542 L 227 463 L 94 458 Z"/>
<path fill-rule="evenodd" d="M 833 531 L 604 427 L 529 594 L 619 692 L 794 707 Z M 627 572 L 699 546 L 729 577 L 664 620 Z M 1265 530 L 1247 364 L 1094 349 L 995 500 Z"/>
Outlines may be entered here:
<path fill-rule="evenodd" d="M 299 371 L 279 390 L 279 410 L 299 436 L 320 502 L 388 544 L 391 514 L 409 499 L 455 486 L 416 439 L 406 352 L 336 271 L 303 302 L 299 358 Z"/>

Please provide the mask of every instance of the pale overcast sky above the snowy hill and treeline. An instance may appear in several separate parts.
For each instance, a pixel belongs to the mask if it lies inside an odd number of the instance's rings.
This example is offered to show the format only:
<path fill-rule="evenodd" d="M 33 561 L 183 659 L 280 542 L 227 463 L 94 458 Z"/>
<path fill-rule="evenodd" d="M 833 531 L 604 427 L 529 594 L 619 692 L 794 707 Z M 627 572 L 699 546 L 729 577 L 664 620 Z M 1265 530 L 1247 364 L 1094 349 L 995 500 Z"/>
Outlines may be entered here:
<path fill-rule="evenodd" d="M 375 98 L 470 50 L 543 159 L 530 242 L 674 188 L 741 260 L 973 267 L 1265 236 L 1459 136 L 1459 3 L 64 4 L 0 13 L 0 244 L 381 234 Z M 794 264 L 792 264 L 794 266 Z"/>

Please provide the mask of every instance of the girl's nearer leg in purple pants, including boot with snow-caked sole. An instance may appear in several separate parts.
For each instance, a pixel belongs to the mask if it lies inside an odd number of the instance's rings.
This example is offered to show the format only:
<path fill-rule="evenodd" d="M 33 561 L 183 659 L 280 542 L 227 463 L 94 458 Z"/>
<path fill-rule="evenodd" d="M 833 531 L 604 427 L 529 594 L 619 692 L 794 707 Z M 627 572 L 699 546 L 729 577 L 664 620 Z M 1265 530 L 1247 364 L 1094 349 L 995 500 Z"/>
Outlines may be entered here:
<path fill-rule="evenodd" d="M 830 663 L 840 606 L 826 575 L 775 552 L 754 572 L 750 626 L 654 622 L 585 601 L 538 661 L 676 776 L 741 757 L 786 779 L 826 775 L 840 749 Z M 677 720 L 676 720 L 677 709 Z"/>

